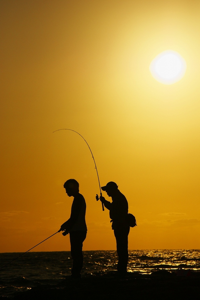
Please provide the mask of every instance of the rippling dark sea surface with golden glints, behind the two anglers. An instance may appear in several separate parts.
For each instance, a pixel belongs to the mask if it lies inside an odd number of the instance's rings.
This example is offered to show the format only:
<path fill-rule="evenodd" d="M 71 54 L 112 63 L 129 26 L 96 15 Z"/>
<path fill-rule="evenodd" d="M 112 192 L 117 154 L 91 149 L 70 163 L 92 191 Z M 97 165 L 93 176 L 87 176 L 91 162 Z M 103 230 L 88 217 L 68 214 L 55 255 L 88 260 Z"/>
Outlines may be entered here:
<path fill-rule="evenodd" d="M 22 253 L 0 253 L 0 268 Z M 82 276 L 116 271 L 116 251 L 84 251 Z M 12 297 L 46 284 L 57 284 L 71 274 L 70 252 L 28 252 L 0 270 L 0 297 Z M 129 250 L 129 272 L 151 274 L 158 270 L 200 271 L 200 250 Z"/>

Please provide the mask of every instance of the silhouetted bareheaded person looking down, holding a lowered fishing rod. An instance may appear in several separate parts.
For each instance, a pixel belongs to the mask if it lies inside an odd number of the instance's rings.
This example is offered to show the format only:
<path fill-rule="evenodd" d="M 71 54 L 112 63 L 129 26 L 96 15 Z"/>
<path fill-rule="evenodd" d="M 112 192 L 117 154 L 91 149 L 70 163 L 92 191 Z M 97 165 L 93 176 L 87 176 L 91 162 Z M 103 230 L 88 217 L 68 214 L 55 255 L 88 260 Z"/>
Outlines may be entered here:
<path fill-rule="evenodd" d="M 85 222 L 86 203 L 83 195 L 79 193 L 79 183 L 75 179 L 69 179 L 64 183 L 64 188 L 69 197 L 73 196 L 71 215 L 69 220 L 60 226 L 59 231 L 63 235 L 69 233 L 71 244 L 71 256 L 73 259 L 72 277 L 81 278 L 81 269 L 83 268 L 83 241 L 87 235 L 87 226 Z"/>

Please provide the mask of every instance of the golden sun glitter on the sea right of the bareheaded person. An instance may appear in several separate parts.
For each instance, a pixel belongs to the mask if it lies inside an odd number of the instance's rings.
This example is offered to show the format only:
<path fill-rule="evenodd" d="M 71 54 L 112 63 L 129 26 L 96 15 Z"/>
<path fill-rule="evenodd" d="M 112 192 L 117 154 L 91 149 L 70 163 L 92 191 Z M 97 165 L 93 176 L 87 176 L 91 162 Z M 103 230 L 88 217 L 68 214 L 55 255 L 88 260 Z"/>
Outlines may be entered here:
<path fill-rule="evenodd" d="M 85 252 L 85 271 L 104 274 L 116 271 L 118 256 L 116 251 L 94 251 L 93 258 Z M 100 253 L 99 253 L 100 252 Z M 88 253 L 89 254 L 89 253 Z M 100 254 L 100 255 L 99 255 Z M 87 260 L 90 258 L 90 261 Z M 89 264 L 89 265 L 87 265 Z M 150 274 L 157 270 L 176 271 L 177 269 L 200 271 L 200 250 L 130 250 L 128 272 Z"/>

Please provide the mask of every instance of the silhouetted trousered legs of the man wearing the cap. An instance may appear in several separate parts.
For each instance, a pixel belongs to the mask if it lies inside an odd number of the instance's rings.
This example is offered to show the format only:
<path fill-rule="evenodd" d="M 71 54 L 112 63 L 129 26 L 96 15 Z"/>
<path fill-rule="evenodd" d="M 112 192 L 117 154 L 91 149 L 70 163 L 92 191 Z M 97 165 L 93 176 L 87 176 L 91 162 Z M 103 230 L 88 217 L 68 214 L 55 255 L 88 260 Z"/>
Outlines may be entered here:
<path fill-rule="evenodd" d="M 117 244 L 117 255 L 119 257 L 117 271 L 126 274 L 128 264 L 128 234 L 130 227 L 114 229 Z"/>

